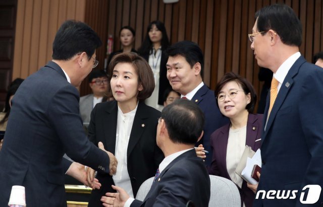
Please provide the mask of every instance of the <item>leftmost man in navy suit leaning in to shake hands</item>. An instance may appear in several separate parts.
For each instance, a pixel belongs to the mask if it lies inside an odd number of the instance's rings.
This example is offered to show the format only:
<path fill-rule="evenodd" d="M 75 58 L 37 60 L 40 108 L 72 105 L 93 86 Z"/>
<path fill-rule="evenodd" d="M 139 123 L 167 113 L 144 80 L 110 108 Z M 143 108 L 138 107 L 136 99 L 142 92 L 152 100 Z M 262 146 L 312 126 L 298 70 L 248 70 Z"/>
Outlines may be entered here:
<path fill-rule="evenodd" d="M 97 65 L 100 45 L 89 26 L 66 21 L 53 42 L 53 60 L 19 87 L 0 153 L 0 206 L 8 205 L 13 185 L 25 186 L 27 206 L 66 206 L 64 173 L 86 174 L 84 166 L 62 159 L 64 153 L 99 173 L 116 171 L 115 157 L 84 133 L 75 87 Z"/>

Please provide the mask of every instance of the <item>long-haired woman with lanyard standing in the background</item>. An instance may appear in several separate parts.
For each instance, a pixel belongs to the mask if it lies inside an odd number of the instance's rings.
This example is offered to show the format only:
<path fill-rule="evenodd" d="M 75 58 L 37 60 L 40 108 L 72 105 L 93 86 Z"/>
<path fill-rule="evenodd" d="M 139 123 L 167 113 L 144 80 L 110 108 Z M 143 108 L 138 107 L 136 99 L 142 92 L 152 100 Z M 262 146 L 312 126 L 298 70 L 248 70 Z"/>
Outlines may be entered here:
<path fill-rule="evenodd" d="M 146 100 L 148 106 L 163 110 L 164 92 L 171 87 L 167 79 L 166 49 L 170 45 L 165 25 L 160 21 L 152 21 L 147 27 L 146 37 L 138 49 L 139 54 L 147 60 L 155 79 L 152 95 Z"/>

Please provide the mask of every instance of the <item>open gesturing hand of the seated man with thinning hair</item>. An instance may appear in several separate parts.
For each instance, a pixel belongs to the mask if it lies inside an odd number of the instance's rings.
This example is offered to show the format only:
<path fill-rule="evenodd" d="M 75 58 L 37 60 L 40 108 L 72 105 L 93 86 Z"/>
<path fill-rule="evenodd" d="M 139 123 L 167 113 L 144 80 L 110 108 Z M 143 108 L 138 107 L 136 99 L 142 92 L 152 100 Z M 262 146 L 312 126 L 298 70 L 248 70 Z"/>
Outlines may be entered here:
<path fill-rule="evenodd" d="M 130 197 L 128 193 L 121 187 L 112 185 L 112 188 L 117 190 L 117 193 L 107 192 L 106 196 L 101 197 L 103 206 L 105 207 L 123 207 Z"/>

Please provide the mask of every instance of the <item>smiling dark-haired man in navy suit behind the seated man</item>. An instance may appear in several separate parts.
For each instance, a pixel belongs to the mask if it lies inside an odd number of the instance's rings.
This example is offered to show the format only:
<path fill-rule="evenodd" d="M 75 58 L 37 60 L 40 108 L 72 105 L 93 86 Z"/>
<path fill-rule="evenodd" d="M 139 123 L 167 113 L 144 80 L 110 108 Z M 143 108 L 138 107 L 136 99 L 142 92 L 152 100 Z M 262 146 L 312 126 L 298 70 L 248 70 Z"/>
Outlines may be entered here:
<path fill-rule="evenodd" d="M 190 41 L 180 41 L 167 49 L 168 62 L 167 79 L 173 90 L 181 94 L 181 98 L 196 103 L 205 116 L 204 135 L 200 142 L 209 153 L 205 164 L 210 165 L 212 160 L 212 149 L 210 146 L 210 135 L 213 131 L 229 123 L 216 104 L 214 91 L 211 91 L 202 80 L 204 60 L 199 46 Z"/>

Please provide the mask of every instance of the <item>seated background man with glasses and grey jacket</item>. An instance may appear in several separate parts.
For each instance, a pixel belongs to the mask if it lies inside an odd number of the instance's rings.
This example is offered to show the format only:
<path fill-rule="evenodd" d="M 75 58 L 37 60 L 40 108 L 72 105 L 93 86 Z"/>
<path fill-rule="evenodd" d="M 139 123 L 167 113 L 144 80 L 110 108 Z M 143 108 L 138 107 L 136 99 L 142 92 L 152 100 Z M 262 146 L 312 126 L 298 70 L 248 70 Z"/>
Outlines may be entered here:
<path fill-rule="evenodd" d="M 91 111 L 95 104 L 106 101 L 109 81 L 104 71 L 92 71 L 88 76 L 89 86 L 92 94 L 80 98 L 80 114 L 83 123 L 90 122 Z"/>

